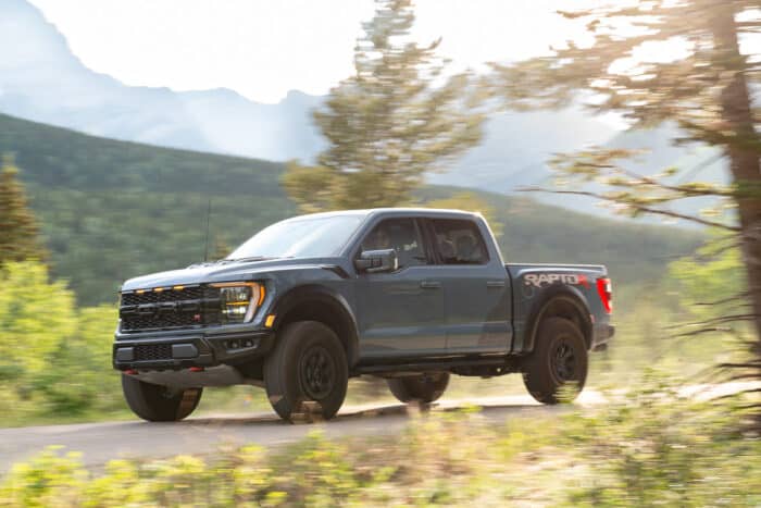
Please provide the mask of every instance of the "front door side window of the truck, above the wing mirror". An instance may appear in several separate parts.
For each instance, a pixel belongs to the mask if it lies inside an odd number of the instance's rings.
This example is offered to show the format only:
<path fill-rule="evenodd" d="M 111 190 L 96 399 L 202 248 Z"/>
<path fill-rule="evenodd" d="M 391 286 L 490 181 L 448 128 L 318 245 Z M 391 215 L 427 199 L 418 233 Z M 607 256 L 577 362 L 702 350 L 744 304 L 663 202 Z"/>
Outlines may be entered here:
<path fill-rule="evenodd" d="M 428 264 L 420 231 L 412 219 L 387 219 L 362 240 L 362 250 L 394 249 L 399 268 Z"/>

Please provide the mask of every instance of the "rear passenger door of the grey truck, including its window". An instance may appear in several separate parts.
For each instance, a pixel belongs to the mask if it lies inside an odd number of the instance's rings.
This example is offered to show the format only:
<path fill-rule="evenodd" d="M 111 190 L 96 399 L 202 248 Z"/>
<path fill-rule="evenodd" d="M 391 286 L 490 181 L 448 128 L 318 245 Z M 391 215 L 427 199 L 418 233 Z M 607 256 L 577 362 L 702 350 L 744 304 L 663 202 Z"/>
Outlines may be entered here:
<path fill-rule="evenodd" d="M 510 278 L 490 259 L 478 224 L 429 219 L 438 278 L 444 285 L 448 354 L 507 354 L 512 327 Z"/>

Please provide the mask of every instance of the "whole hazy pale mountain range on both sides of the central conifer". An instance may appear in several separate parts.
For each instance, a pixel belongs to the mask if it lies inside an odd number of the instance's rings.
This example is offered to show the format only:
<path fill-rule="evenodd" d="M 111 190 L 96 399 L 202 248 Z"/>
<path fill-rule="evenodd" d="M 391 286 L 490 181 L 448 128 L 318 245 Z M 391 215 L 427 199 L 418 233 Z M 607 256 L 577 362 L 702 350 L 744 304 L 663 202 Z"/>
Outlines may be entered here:
<path fill-rule="evenodd" d="M 0 112 L 87 134 L 163 147 L 285 161 L 313 161 L 325 140 L 311 111 L 322 97 L 290 91 L 276 104 L 251 101 L 229 89 L 173 91 L 126 86 L 87 69 L 63 35 L 26 0 L 0 2 Z M 436 185 L 511 194 L 551 185 L 547 160 L 590 145 L 650 148 L 631 168 L 652 174 L 669 165 L 689 169 L 723 161 L 701 147 L 673 147 L 674 128 L 621 133 L 579 108 L 556 112 L 502 112 L 485 125 L 482 144 L 428 176 Z M 706 162 L 708 161 L 708 162 Z M 712 176 L 713 177 L 713 176 Z M 594 187 L 592 187 L 594 189 Z M 537 195 L 542 202 L 597 215 L 594 200 Z M 711 205 L 679 205 L 695 212 Z"/>

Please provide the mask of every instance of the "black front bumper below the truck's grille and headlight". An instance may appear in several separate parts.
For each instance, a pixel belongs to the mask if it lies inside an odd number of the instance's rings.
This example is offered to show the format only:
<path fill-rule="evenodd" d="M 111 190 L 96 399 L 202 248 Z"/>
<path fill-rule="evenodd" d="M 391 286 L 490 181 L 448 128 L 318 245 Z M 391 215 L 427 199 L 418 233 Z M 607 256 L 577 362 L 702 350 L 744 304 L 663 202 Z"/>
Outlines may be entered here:
<path fill-rule="evenodd" d="M 179 370 L 191 367 L 235 365 L 266 355 L 272 330 L 178 330 L 116 333 L 113 367 L 116 370 Z"/>

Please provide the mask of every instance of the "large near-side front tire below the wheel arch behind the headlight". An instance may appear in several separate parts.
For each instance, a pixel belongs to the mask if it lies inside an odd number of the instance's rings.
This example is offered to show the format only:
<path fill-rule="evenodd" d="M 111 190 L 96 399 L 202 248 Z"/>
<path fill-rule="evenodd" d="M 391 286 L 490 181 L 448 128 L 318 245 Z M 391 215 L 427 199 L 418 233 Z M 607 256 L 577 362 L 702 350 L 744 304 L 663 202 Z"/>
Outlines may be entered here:
<path fill-rule="evenodd" d="M 335 417 L 349 382 L 344 345 L 333 330 L 317 321 L 288 324 L 264 363 L 264 386 L 270 404 L 284 420 L 305 412 L 315 401 L 325 420 Z"/>

